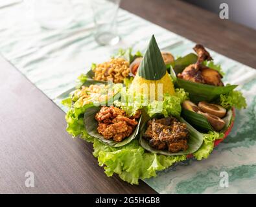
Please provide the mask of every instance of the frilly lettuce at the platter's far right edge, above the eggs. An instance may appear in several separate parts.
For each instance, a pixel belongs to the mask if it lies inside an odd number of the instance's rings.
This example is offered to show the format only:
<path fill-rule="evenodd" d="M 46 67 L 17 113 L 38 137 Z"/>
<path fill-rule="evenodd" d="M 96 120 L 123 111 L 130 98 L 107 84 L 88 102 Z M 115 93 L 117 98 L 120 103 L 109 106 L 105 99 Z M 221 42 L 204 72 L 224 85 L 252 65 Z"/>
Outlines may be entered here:
<path fill-rule="evenodd" d="M 246 108 L 246 98 L 240 91 L 231 91 L 227 94 L 220 94 L 220 105 L 226 109 L 235 107 L 237 109 Z"/>

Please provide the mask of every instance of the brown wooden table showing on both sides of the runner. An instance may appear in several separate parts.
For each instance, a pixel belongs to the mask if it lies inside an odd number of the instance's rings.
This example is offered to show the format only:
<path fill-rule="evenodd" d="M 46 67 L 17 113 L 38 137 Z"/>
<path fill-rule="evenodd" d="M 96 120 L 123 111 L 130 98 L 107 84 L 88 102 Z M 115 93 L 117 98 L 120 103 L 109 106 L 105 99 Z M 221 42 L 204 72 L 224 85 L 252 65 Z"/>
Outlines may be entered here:
<path fill-rule="evenodd" d="M 121 7 L 256 68 L 256 31 L 182 1 L 129 0 Z M 232 49 L 230 49 L 232 48 Z M 64 112 L 0 58 L 0 193 L 156 193 L 106 177 L 92 146 L 65 132 Z M 32 171 L 35 187 L 25 186 Z"/>

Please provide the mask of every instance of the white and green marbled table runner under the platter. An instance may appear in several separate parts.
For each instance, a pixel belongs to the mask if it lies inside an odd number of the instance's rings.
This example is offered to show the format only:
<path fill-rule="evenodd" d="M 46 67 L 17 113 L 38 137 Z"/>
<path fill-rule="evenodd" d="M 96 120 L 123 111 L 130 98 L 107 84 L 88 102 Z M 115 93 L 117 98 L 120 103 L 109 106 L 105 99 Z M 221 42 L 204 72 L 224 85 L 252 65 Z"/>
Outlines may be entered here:
<path fill-rule="evenodd" d="M 102 47 L 93 39 L 88 1 L 72 1 L 75 21 L 62 30 L 41 28 L 26 3 L 8 3 L 0 3 L 1 54 L 64 111 L 60 100 L 75 86 L 76 77 L 85 73 L 92 62 L 108 60 L 119 48 L 144 51 L 152 34 L 160 49 L 174 56 L 192 52 L 195 44 L 120 9 L 118 28 L 122 40 L 115 47 Z M 182 162 L 145 180 L 159 193 L 256 193 L 256 70 L 213 50 L 209 52 L 226 72 L 224 83 L 240 85 L 248 107 L 236 111 L 233 130 L 209 158 Z M 220 185 L 223 171 L 229 176 L 227 188 Z"/>

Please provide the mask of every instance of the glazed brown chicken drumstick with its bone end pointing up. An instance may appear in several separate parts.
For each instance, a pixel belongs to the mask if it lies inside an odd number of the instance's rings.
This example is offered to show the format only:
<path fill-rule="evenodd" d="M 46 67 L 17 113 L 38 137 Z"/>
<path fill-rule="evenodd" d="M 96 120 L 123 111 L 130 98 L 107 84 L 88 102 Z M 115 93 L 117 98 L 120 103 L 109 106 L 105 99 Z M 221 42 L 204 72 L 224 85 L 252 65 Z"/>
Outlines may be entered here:
<path fill-rule="evenodd" d="M 224 84 L 221 80 L 222 75 L 218 71 L 202 64 L 205 60 L 213 60 L 209 52 L 205 50 L 203 45 L 199 44 L 197 44 L 193 49 L 196 54 L 198 54 L 198 60 L 196 63 L 189 65 L 181 73 L 179 73 L 178 78 L 195 83 L 223 86 Z"/>

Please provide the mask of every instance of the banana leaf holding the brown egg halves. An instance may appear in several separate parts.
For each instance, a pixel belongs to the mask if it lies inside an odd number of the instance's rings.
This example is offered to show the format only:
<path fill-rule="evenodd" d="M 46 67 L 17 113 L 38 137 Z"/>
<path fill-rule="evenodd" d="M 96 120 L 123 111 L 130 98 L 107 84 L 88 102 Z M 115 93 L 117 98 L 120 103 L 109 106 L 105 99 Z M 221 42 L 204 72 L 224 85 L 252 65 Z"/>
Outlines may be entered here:
<path fill-rule="evenodd" d="M 187 109 L 182 109 L 181 116 L 189 122 L 193 127 L 202 132 L 215 131 L 211 124 L 208 122 L 207 118 L 202 114 L 195 113 L 194 111 L 189 111 Z M 220 133 L 225 132 L 229 127 L 231 120 L 233 119 L 232 110 L 227 111 L 226 116 L 222 118 L 225 122 L 224 128 L 220 131 Z"/>

